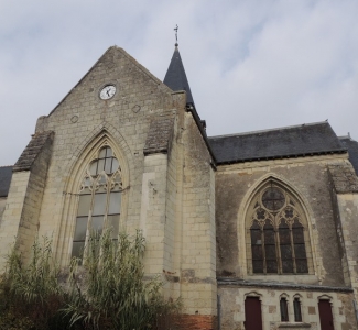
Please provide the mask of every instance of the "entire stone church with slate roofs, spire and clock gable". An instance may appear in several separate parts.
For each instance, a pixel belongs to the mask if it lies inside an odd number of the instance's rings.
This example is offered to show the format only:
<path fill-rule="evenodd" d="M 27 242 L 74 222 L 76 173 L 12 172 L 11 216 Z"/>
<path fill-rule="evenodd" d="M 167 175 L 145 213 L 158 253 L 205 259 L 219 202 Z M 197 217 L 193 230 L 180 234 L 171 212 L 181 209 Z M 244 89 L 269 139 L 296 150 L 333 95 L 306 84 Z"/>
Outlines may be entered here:
<path fill-rule="evenodd" d="M 193 96 L 177 44 L 163 81 L 110 47 L 0 167 L 1 254 L 47 235 L 65 267 L 90 229 L 141 229 L 180 329 L 358 329 L 358 143 L 207 136 Z"/>

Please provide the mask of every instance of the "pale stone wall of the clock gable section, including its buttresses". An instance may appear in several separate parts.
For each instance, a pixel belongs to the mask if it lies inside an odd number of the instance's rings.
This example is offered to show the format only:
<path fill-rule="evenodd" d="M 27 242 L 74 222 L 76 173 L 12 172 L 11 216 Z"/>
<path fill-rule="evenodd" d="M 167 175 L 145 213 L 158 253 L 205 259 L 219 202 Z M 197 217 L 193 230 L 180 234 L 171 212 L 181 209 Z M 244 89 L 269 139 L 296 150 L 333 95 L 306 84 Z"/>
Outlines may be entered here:
<path fill-rule="evenodd" d="M 101 100 L 107 84 L 117 92 Z M 82 182 L 100 147 L 109 145 L 122 173 L 120 227 L 129 233 L 143 230 L 145 275 L 162 274 L 164 295 L 181 296 L 183 312 L 195 316 L 194 323 L 209 320 L 205 329 L 210 329 L 217 296 L 214 169 L 185 106 L 185 92 L 173 92 L 124 51 L 109 48 L 37 120 L 36 134 L 54 132 L 50 167 L 14 173 L 0 234 L 52 237 L 58 263 L 67 266 Z M 19 230 L 21 217 L 31 221 Z M 30 241 L 21 242 L 29 246 Z"/>

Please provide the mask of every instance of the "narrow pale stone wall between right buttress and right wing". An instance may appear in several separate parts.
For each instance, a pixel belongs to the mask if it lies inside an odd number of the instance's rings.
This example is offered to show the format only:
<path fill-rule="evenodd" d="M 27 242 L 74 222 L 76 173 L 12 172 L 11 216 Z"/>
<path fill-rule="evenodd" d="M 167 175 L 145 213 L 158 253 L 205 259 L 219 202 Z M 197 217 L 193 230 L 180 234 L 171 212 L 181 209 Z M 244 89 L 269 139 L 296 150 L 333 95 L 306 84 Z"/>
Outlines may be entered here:
<path fill-rule="evenodd" d="M 181 293 L 185 314 L 216 315 L 215 185 L 211 157 L 191 112 L 184 122 Z"/>

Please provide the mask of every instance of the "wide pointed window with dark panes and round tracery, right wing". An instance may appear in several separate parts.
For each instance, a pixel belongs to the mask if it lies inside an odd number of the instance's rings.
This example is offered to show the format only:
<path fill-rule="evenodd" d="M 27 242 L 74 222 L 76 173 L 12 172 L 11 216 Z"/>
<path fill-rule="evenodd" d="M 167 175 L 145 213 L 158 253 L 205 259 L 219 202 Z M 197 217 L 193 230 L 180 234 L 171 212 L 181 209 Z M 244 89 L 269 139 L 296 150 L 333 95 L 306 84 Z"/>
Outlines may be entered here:
<path fill-rule="evenodd" d="M 247 229 L 250 273 L 308 273 L 307 222 L 292 194 L 272 182 L 263 186 L 250 204 Z"/>

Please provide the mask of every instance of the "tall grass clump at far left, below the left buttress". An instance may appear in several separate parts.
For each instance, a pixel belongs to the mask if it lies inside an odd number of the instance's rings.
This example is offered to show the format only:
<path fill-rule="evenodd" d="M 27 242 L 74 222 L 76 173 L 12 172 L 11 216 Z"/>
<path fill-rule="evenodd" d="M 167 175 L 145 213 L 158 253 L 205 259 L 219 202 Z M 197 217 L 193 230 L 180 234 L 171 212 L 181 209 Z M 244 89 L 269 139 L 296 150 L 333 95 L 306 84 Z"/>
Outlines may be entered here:
<path fill-rule="evenodd" d="M 51 246 L 51 240 L 45 238 L 39 242 L 36 239 L 28 265 L 15 246 L 12 248 L 0 283 L 0 319 L 7 315 L 8 319 L 22 320 L 23 327 L 28 328 L 21 329 L 48 329 L 56 318 L 64 304 L 64 293 L 57 280 L 59 271 Z"/>

